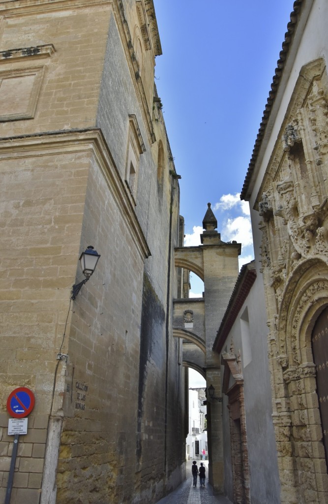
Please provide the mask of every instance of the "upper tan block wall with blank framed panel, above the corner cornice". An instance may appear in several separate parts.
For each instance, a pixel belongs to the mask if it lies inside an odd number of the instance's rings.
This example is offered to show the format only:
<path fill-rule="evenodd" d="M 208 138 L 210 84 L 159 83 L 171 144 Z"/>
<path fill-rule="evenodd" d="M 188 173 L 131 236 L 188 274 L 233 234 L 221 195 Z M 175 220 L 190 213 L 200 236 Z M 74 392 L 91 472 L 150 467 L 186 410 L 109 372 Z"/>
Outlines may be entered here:
<path fill-rule="evenodd" d="M 42 16 L 36 15 L 34 2 L 2 4 L 0 79 L 10 83 L 5 88 L 9 96 L 1 93 L 0 100 L 12 103 L 7 114 L 19 120 L 0 122 L 0 137 L 95 125 L 111 4 L 76 4 L 58 8 L 43 2 L 37 7 Z M 52 46 L 46 54 L 44 45 Z M 36 48 L 32 54 L 14 51 L 30 47 Z M 38 79 L 24 76 L 27 71 Z M 12 99 L 15 95 L 21 96 L 18 102 Z M 24 119 L 28 101 L 34 106 Z"/>

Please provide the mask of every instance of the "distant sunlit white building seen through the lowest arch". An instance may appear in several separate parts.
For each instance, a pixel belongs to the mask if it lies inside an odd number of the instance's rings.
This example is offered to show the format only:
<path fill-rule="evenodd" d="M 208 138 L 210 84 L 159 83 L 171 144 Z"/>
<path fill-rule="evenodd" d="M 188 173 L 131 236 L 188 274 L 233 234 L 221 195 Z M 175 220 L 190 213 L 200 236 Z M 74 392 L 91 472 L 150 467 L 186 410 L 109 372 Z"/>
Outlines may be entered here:
<path fill-rule="evenodd" d="M 186 438 L 186 460 L 201 460 L 207 450 L 205 389 L 189 389 L 189 433 Z"/>

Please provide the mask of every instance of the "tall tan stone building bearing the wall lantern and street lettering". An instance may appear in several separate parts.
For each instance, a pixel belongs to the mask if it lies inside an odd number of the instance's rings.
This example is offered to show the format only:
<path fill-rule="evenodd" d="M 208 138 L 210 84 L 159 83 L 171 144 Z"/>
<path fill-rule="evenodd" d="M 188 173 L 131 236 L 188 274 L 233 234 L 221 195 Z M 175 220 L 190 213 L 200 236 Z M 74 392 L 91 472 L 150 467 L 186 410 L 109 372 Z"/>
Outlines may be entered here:
<path fill-rule="evenodd" d="M 15 504 L 154 502 L 185 474 L 179 185 L 154 90 L 152 0 L 0 3 L 1 440 L 36 402 Z M 78 259 L 101 258 L 84 277 Z"/>

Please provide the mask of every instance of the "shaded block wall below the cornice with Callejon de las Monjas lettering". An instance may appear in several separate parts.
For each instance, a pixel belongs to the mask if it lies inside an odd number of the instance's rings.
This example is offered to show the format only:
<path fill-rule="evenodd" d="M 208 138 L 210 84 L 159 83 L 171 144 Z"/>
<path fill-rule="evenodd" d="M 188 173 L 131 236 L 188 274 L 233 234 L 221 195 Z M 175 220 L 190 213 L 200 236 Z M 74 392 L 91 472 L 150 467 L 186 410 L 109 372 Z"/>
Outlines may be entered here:
<path fill-rule="evenodd" d="M 115 223 L 113 226 L 112 223 Z M 135 489 L 144 259 L 93 158 L 81 241 L 101 253 L 72 307 L 57 499 L 129 501 Z"/>

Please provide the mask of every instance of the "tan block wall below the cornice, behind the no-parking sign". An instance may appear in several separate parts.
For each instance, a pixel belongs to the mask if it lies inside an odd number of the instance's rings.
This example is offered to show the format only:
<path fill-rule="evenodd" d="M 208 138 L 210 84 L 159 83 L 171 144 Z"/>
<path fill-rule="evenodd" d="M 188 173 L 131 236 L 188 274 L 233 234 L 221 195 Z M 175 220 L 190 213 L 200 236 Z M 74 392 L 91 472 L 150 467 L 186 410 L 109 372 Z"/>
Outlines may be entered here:
<path fill-rule="evenodd" d="M 36 397 L 28 433 L 20 436 L 12 493 L 17 503 L 39 501 L 48 417 L 61 403 L 53 396 L 56 353 L 76 274 L 89 165 L 86 153 L 55 152 L 54 143 L 43 153 L 39 148 L 39 142 L 27 148 L 17 141 L 0 149 L 1 227 L 10 250 L 1 259 L 2 498 L 13 442 L 7 397 L 22 386 Z"/>

